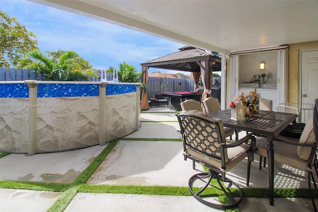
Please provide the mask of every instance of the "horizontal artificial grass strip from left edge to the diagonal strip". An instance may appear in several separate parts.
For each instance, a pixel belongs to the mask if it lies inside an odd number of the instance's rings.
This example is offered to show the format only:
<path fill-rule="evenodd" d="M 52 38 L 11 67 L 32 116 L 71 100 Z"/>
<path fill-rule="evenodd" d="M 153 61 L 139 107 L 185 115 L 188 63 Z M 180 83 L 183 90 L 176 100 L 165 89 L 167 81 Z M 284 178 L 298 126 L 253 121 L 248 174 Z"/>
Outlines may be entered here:
<path fill-rule="evenodd" d="M 71 184 L 64 183 L 41 183 L 41 182 L 23 182 L 23 181 L 8 181 L 1 180 L 0 188 L 5 189 L 25 189 L 33 191 L 50 191 L 50 192 L 65 192 L 72 187 Z"/>

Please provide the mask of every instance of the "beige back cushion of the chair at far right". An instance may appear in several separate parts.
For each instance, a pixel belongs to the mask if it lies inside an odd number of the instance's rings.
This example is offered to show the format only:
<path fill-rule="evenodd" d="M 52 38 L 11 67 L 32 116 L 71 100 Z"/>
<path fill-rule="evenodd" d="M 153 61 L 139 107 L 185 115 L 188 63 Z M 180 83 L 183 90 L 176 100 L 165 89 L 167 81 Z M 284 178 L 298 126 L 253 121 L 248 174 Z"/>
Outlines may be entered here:
<path fill-rule="evenodd" d="M 299 138 L 299 143 L 313 144 L 315 142 L 314 123 L 313 116 L 308 118 L 308 122 L 305 125 L 304 131 Z M 311 147 L 298 146 L 297 154 L 303 160 L 308 160 L 311 154 Z"/>

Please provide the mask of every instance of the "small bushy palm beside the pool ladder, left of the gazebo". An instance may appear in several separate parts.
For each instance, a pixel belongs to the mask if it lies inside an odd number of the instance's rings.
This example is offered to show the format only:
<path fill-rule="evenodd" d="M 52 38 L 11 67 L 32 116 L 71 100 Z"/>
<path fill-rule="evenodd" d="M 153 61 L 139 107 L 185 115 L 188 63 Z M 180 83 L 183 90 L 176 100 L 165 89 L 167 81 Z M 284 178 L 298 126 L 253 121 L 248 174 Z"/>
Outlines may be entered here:
<path fill-rule="evenodd" d="M 112 72 L 115 68 L 110 66 L 107 69 L 107 72 Z M 119 64 L 118 68 L 118 81 L 122 83 L 138 83 L 140 80 L 141 72 L 136 71 L 136 67 L 124 63 Z"/>

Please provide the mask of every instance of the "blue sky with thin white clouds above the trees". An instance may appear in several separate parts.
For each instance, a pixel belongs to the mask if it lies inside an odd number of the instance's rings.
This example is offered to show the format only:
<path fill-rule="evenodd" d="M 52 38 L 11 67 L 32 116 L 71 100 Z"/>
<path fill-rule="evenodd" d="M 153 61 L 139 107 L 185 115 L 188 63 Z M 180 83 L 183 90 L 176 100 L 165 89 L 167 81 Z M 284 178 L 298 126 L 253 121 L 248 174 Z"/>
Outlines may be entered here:
<path fill-rule="evenodd" d="M 140 63 L 179 51 L 184 44 L 25 0 L 0 0 L 0 9 L 32 31 L 39 49 L 73 50 L 95 69 L 118 67 L 124 61 L 141 71 Z M 149 73 L 180 71 L 150 68 Z M 184 74 L 189 74 L 183 72 Z"/>

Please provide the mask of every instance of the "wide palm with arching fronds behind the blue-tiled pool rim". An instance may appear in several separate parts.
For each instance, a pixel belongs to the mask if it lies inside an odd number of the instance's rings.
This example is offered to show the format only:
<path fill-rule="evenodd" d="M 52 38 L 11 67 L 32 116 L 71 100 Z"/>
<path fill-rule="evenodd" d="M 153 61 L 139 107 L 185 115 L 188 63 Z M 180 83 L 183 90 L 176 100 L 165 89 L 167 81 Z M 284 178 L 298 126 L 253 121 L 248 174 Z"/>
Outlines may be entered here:
<path fill-rule="evenodd" d="M 82 69 L 78 59 L 79 55 L 74 51 L 66 51 L 56 60 L 34 50 L 21 60 L 21 66 L 36 70 L 50 81 L 88 81 L 91 76 L 98 77 L 94 70 Z"/>

